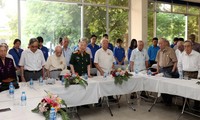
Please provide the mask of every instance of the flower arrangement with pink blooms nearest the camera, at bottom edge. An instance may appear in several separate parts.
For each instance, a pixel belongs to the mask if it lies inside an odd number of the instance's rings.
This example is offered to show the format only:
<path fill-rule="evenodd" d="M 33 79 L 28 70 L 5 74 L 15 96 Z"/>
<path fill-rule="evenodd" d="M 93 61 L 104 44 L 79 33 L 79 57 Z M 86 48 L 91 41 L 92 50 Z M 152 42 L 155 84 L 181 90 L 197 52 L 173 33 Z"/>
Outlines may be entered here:
<path fill-rule="evenodd" d="M 68 114 L 63 109 L 61 109 L 61 106 L 67 107 L 65 101 L 57 95 L 47 91 L 45 92 L 47 93 L 47 96 L 41 100 L 41 102 L 37 105 L 36 108 L 32 110 L 32 112 L 42 113 L 45 116 L 45 119 L 49 120 L 50 109 L 51 107 L 54 107 L 56 113 L 61 115 L 62 120 L 69 120 Z"/>

